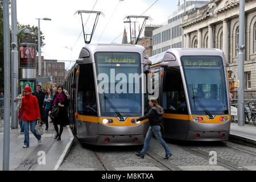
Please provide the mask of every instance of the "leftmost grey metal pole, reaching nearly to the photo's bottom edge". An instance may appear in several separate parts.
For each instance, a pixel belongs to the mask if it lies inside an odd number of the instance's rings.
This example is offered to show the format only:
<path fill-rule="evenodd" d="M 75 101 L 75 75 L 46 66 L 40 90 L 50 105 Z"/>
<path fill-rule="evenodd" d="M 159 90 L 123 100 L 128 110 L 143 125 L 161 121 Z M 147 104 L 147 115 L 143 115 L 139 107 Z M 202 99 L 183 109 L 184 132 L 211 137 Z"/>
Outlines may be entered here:
<path fill-rule="evenodd" d="M 5 89 L 5 126 L 3 131 L 3 171 L 9 171 L 10 160 L 10 29 L 9 1 L 3 0 L 3 57 Z"/>

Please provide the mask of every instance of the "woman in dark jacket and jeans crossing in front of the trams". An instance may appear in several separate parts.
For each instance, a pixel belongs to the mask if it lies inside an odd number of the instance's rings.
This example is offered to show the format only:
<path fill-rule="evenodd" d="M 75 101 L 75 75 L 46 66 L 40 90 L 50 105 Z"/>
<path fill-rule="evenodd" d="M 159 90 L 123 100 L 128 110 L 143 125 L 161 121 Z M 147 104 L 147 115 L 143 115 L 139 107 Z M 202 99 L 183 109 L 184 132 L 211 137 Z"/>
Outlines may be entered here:
<path fill-rule="evenodd" d="M 165 148 L 166 155 L 165 155 L 164 159 L 169 159 L 170 156 L 172 156 L 173 154 L 171 154 L 171 151 L 169 150 L 167 144 L 165 143 L 165 141 L 163 140 L 162 135 L 161 135 L 160 123 L 161 123 L 161 117 L 163 114 L 163 108 L 161 106 L 159 106 L 158 101 L 153 98 L 151 98 L 149 100 L 149 105 L 151 107 L 149 113 L 147 113 L 143 117 L 137 119 L 137 121 L 142 121 L 142 120 L 148 118 L 150 128 L 149 128 L 149 130 L 147 130 L 145 142 L 144 142 L 141 152 L 138 152 L 136 155 L 141 157 L 142 159 L 144 158 L 147 147 L 149 147 L 149 142 L 154 134 L 155 137 L 157 138 L 158 142 L 160 142 L 162 144 L 163 148 Z"/>

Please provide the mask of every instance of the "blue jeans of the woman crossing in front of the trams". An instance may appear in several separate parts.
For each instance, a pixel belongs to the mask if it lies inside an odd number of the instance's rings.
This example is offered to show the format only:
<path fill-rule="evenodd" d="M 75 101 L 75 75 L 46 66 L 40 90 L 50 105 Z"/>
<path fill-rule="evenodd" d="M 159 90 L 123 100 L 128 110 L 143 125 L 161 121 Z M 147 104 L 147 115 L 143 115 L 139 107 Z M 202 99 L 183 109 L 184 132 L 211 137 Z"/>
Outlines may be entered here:
<path fill-rule="evenodd" d="M 165 148 L 165 153 L 167 155 L 170 155 L 171 151 L 169 150 L 167 144 L 163 140 L 162 135 L 161 135 L 161 127 L 158 125 L 150 126 L 149 130 L 147 131 L 147 135 L 145 138 L 145 142 L 144 142 L 144 146 L 142 148 L 141 154 L 145 155 L 147 148 L 149 147 L 149 142 L 150 142 L 151 138 L 153 137 L 153 134 L 155 135 L 155 138 L 157 138 L 158 142 L 160 142 L 162 144 L 163 148 Z"/>

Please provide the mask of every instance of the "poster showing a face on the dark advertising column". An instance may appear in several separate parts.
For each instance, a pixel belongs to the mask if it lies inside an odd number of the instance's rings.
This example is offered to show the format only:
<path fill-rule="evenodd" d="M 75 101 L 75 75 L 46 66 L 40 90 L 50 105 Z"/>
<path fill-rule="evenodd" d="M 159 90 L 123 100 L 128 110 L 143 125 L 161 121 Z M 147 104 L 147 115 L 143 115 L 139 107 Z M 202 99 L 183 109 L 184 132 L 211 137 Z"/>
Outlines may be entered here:
<path fill-rule="evenodd" d="M 36 49 L 33 44 L 19 46 L 19 68 L 37 68 Z"/>

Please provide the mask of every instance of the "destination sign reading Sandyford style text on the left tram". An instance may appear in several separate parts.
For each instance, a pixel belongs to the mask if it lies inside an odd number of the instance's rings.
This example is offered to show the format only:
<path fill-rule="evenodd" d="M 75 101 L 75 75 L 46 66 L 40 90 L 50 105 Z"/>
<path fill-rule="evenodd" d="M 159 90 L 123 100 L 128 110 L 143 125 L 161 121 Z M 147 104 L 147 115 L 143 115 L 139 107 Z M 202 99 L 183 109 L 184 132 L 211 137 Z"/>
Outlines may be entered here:
<path fill-rule="evenodd" d="M 95 54 L 95 60 L 98 64 L 138 64 L 140 55 L 139 53 L 99 52 Z"/>

